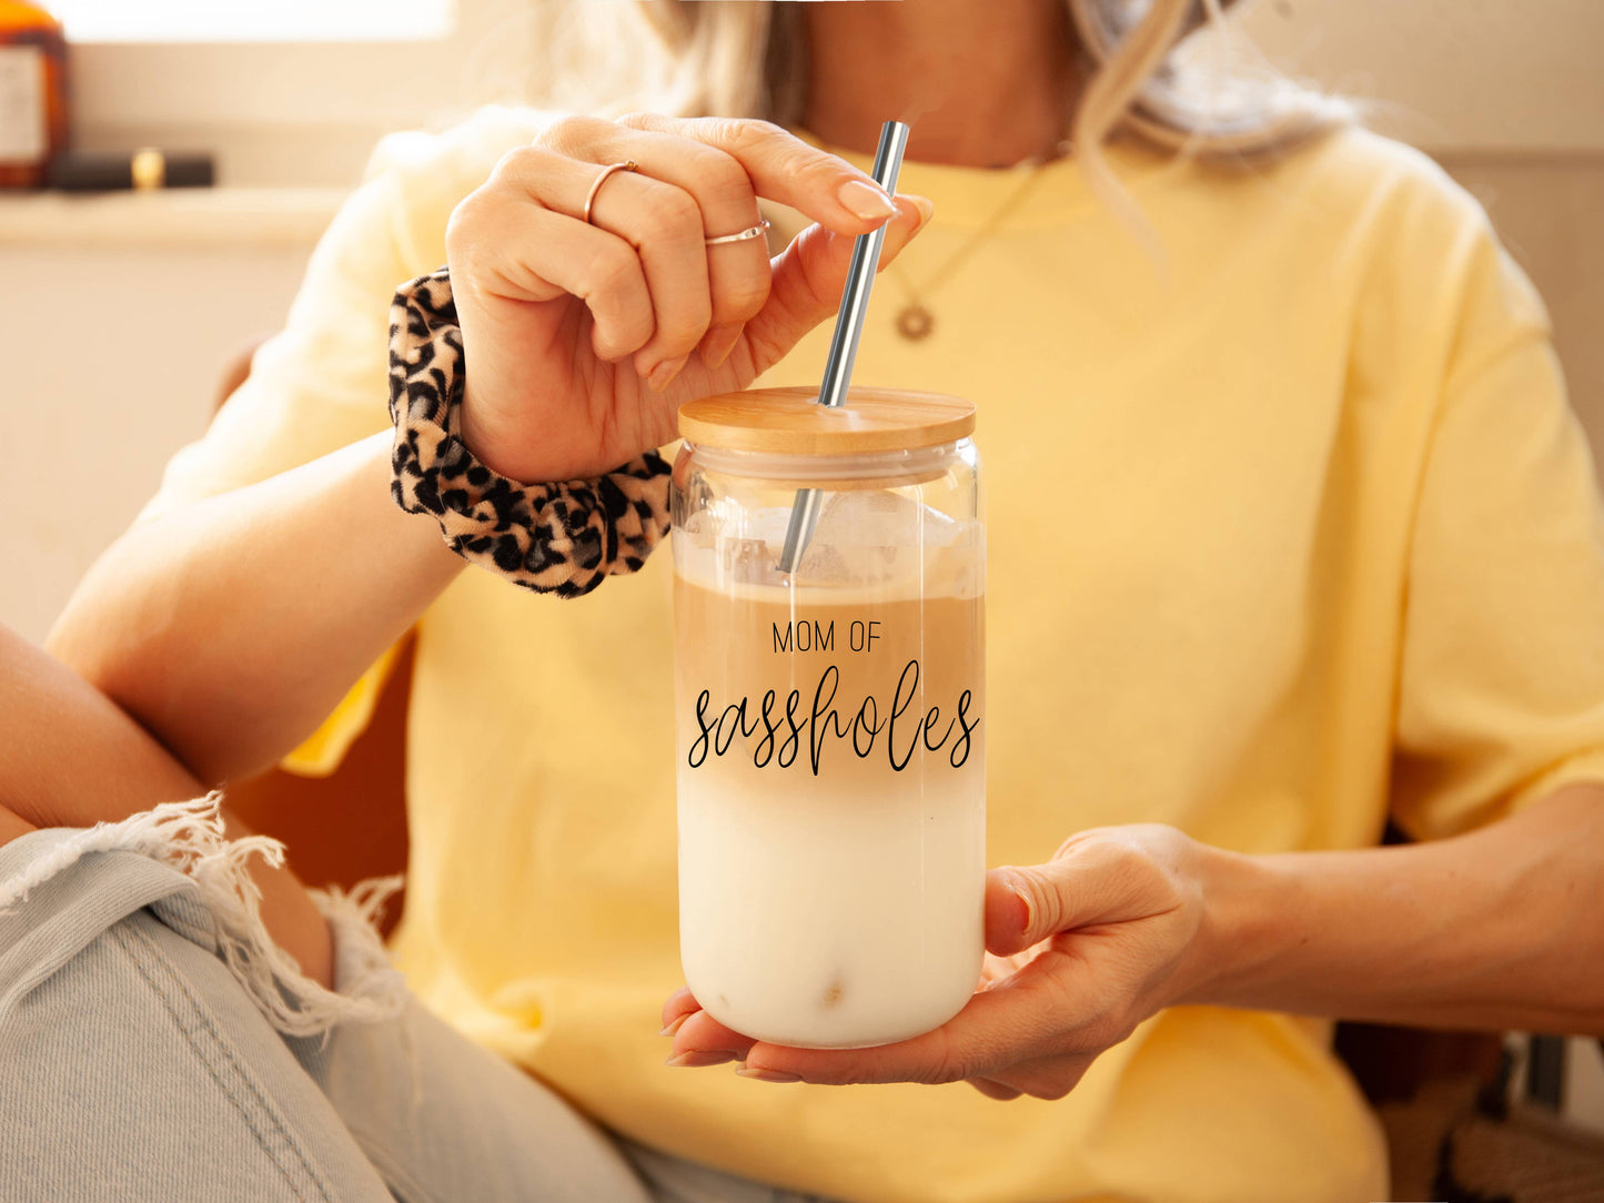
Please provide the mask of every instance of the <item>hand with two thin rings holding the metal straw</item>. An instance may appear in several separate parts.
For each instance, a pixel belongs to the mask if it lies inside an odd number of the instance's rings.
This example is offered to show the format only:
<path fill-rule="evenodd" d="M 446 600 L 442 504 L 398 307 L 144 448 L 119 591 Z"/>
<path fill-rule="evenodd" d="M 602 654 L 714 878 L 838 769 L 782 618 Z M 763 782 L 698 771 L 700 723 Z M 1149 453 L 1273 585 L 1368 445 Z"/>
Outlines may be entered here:
<path fill-rule="evenodd" d="M 632 159 L 585 194 L 606 165 Z M 808 226 L 706 245 L 760 221 Z M 858 168 L 776 125 L 565 117 L 507 154 L 446 231 L 468 364 L 462 436 L 525 483 L 598 476 L 674 438 L 678 406 L 744 388 L 840 302 L 852 244 L 887 218 L 881 263 L 929 221 Z"/>

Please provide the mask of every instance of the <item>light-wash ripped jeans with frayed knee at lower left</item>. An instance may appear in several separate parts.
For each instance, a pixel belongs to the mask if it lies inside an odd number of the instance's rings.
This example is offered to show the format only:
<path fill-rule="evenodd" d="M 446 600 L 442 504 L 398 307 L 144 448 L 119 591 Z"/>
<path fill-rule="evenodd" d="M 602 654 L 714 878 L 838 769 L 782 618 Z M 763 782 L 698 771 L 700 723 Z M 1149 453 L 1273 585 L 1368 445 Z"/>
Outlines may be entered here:
<path fill-rule="evenodd" d="M 215 799 L 0 847 L 6 1203 L 775 1201 L 611 1139 L 422 1009 L 326 893 L 335 990 L 266 937 Z"/>

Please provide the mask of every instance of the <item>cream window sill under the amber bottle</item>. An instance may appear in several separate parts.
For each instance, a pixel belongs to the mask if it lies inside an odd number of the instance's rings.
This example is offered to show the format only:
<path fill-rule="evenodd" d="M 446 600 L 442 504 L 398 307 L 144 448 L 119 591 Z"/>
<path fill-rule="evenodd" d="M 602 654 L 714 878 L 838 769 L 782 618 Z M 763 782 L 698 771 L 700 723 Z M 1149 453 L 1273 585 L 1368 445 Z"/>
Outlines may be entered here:
<path fill-rule="evenodd" d="M 342 188 L 0 194 L 0 245 L 310 249 L 346 194 Z"/>

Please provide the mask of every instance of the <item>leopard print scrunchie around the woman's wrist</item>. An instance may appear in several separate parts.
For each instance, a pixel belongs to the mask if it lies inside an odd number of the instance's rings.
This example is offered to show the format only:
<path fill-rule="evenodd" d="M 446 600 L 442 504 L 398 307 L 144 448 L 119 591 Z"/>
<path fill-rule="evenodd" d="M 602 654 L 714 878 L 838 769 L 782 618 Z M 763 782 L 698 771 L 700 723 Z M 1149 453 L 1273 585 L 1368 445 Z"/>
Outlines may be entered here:
<path fill-rule="evenodd" d="M 457 433 L 462 327 L 446 268 L 390 306 L 390 492 L 428 513 L 451 550 L 513 584 L 582 597 L 638 571 L 669 529 L 669 464 L 656 451 L 597 480 L 520 484 L 480 464 Z"/>

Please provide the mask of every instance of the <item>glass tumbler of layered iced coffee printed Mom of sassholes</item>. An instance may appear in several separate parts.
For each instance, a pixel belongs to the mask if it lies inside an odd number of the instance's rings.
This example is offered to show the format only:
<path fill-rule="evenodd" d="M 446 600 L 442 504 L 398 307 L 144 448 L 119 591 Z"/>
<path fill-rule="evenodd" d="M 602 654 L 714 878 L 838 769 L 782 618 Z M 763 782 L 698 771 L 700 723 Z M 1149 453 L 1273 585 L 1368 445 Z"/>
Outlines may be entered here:
<path fill-rule="evenodd" d="M 813 396 L 680 411 L 680 956 L 725 1027 L 863 1047 L 940 1027 L 980 977 L 980 464 L 967 401 Z M 818 521 L 784 573 L 799 491 Z"/>

